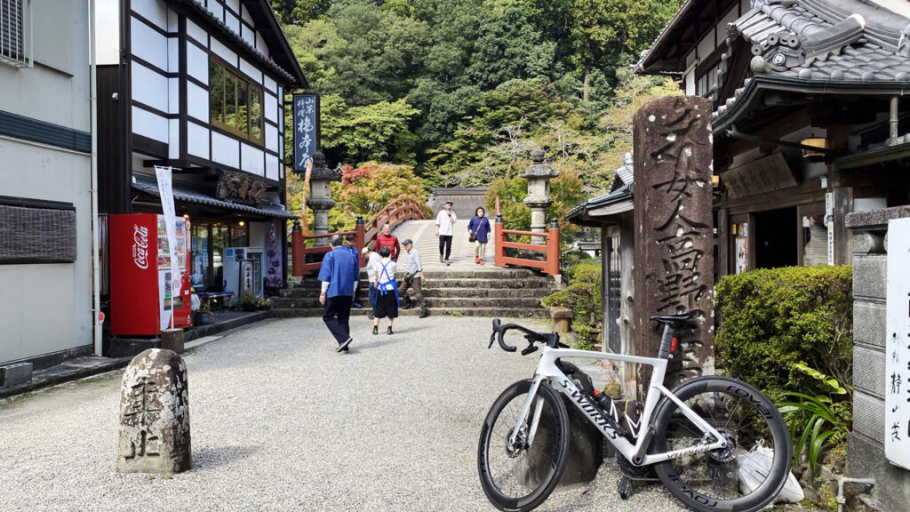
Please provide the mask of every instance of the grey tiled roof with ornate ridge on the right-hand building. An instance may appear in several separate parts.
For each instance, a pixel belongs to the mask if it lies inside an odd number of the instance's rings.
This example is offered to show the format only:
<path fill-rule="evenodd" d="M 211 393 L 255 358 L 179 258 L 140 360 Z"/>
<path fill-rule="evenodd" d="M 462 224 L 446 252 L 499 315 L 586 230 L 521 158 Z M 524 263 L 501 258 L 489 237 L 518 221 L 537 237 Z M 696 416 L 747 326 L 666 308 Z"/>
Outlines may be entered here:
<path fill-rule="evenodd" d="M 910 82 L 910 19 L 856 0 L 756 0 L 727 27 L 751 44 L 753 74 L 808 82 Z M 728 45 L 726 62 L 732 62 Z M 723 69 L 722 73 L 727 70 Z M 719 77 L 718 82 L 723 80 Z M 714 117 L 743 94 L 721 98 Z"/>

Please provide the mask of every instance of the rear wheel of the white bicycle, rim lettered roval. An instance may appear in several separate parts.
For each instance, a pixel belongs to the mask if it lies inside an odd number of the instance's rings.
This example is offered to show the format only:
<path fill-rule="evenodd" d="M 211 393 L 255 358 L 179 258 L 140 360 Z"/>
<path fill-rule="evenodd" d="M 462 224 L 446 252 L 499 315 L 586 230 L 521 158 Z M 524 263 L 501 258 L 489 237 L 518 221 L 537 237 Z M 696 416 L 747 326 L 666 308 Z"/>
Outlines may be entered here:
<path fill-rule="evenodd" d="M 655 465 L 670 494 L 705 512 L 753 512 L 771 502 L 784 487 L 793 459 L 790 433 L 771 400 L 749 384 L 720 375 L 687 381 L 673 394 L 723 435 L 727 446 Z M 714 441 L 670 401 L 654 425 L 653 453 Z"/>

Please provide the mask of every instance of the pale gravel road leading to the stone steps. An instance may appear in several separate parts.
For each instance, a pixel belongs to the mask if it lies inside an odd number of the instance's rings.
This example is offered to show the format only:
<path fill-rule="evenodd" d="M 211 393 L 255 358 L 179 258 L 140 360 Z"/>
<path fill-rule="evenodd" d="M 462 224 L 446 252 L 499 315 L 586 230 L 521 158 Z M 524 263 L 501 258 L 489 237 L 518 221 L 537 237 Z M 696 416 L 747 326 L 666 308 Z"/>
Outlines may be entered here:
<path fill-rule="evenodd" d="M 384 325 L 353 318 L 349 354 L 319 319 L 185 354 L 193 468 L 170 478 L 115 471 L 121 372 L 0 401 L 0 510 L 493 510 L 480 425 L 537 358 L 487 350 L 489 319 Z M 622 501 L 617 478 L 606 461 L 539 510 L 682 510 L 656 485 Z"/>

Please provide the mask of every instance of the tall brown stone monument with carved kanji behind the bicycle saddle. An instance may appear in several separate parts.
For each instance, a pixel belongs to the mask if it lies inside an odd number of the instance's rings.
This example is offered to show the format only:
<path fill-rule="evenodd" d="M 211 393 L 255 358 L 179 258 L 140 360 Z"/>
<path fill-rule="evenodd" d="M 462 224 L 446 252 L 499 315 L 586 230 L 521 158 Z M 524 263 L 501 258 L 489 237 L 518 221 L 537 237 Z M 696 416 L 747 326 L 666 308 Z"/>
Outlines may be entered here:
<path fill-rule="evenodd" d="M 656 357 L 662 328 L 653 315 L 696 311 L 694 327 L 677 333 L 680 348 L 667 385 L 713 373 L 713 148 L 711 101 L 662 97 L 632 120 L 634 145 L 636 354 Z M 644 396 L 651 367 L 638 370 Z"/>

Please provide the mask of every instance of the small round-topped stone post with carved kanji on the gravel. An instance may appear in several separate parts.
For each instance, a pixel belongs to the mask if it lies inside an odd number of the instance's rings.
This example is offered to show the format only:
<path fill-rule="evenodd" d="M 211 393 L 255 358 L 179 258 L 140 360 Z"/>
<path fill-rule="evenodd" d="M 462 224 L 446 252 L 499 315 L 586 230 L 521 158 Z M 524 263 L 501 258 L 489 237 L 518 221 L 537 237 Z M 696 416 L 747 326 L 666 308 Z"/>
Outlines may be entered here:
<path fill-rule="evenodd" d="M 177 353 L 149 349 L 123 374 L 116 470 L 172 475 L 191 466 L 187 366 Z"/>

